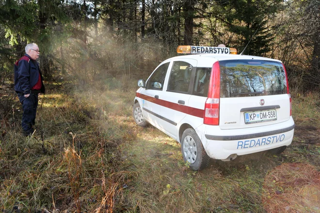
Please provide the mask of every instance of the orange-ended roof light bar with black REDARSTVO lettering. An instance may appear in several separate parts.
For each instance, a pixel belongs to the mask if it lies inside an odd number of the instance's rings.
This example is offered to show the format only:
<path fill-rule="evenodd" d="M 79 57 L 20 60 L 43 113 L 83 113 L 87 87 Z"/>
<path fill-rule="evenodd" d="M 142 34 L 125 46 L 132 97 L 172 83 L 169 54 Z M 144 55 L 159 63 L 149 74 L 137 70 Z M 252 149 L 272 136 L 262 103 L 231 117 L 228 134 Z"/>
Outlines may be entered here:
<path fill-rule="evenodd" d="M 176 52 L 191 54 L 237 54 L 237 49 L 215 46 L 178 46 Z"/>

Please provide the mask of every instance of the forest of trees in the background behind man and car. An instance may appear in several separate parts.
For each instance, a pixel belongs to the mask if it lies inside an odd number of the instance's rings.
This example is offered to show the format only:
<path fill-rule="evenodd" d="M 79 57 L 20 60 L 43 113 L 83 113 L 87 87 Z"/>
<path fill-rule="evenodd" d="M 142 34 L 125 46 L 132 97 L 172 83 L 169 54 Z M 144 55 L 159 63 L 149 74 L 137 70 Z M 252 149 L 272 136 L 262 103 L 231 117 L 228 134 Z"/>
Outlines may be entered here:
<path fill-rule="evenodd" d="M 1 0 L 0 5 L 0 72 L 6 79 L 31 42 L 40 47 L 46 78 L 88 81 L 148 76 L 176 55 L 178 45 L 225 44 L 240 53 L 252 38 L 244 54 L 280 59 L 289 75 L 319 86 L 310 81 L 320 78 L 318 0 Z"/>

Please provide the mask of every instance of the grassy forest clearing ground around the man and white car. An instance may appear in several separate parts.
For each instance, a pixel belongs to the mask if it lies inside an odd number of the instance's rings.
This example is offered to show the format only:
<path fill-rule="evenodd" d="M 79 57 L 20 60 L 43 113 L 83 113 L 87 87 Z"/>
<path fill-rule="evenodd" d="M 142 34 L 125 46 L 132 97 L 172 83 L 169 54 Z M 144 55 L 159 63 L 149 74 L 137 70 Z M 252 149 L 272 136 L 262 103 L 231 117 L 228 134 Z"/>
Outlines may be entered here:
<path fill-rule="evenodd" d="M 123 77 L 85 88 L 48 85 L 31 138 L 21 135 L 19 103 L 12 114 L 14 94 L 1 96 L 6 104 L 0 110 L 0 211 L 268 212 L 275 201 L 288 212 L 318 211 L 319 205 L 309 203 L 320 199 L 313 187 L 320 170 L 319 94 L 293 97 L 297 128 L 280 156 L 256 153 L 212 161 L 194 172 L 175 140 L 134 123 L 135 89 L 127 82 Z M 314 175 L 280 173 L 296 162 Z M 285 182 L 296 177 L 309 182 L 295 187 Z M 288 203 L 279 192 L 304 203 Z"/>

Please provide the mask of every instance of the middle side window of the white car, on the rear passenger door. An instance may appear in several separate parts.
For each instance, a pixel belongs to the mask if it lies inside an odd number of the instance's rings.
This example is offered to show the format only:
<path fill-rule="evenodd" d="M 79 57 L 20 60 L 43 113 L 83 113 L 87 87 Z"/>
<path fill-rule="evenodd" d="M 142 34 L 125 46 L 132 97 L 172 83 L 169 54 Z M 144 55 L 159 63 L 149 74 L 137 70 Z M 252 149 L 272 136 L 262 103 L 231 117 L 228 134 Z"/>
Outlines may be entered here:
<path fill-rule="evenodd" d="M 173 62 L 168 91 L 188 93 L 193 66 L 185 61 Z"/>

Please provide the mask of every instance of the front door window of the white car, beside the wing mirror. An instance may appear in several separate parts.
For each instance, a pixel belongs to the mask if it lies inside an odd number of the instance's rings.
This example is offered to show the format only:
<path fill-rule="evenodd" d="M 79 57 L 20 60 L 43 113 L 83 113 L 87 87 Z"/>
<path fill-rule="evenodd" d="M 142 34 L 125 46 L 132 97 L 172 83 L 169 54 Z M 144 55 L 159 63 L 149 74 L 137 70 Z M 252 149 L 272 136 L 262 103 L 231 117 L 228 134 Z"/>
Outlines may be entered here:
<path fill-rule="evenodd" d="M 148 82 L 147 82 L 147 89 L 149 90 L 162 90 L 163 84 L 164 84 L 164 78 L 167 74 L 167 70 L 169 67 L 169 63 L 164 63 L 158 69 L 155 70 L 155 72 L 150 76 Z"/>

